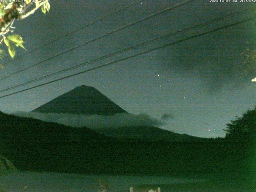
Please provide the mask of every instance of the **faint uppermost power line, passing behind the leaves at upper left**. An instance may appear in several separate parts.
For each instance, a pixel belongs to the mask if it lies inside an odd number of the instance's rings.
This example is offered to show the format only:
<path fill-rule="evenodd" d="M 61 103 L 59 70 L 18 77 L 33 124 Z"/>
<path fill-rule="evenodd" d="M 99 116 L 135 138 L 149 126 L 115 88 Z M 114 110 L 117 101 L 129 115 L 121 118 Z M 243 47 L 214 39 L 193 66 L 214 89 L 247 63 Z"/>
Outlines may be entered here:
<path fill-rule="evenodd" d="M 32 51 L 29 52 L 29 53 L 24 54 L 24 56 L 26 56 L 26 55 L 28 55 L 28 54 L 32 54 L 32 53 L 34 53 L 34 52 L 40 50 L 41 48 L 44 48 L 44 47 L 46 47 L 46 46 L 48 46 L 48 45 L 50 45 L 50 44 L 53 44 L 54 42 L 56 42 L 56 41 L 58 41 L 58 40 L 60 40 L 60 39 L 62 39 L 62 38 L 65 38 L 66 36 L 72 35 L 72 34 L 78 32 L 78 31 L 80 31 L 80 30 L 82 30 L 82 29 L 84 29 L 84 28 L 86 28 L 86 27 L 89 27 L 89 26 L 91 26 L 91 25 L 93 25 L 93 24 L 96 24 L 97 22 L 100 22 L 100 21 L 102 21 L 102 20 L 104 20 L 104 19 L 106 19 L 106 18 L 108 18 L 108 17 L 110 17 L 110 16 L 112 16 L 112 15 L 115 15 L 115 14 L 117 14 L 117 13 L 120 13 L 120 12 L 122 12 L 122 11 L 124 11 L 124 10 L 126 10 L 126 9 L 128 9 L 128 8 L 130 8 L 130 7 L 132 7 L 132 6 L 134 6 L 135 4 L 137 4 L 137 3 L 140 2 L 140 1 L 141 1 L 141 0 L 136 0 L 135 2 L 133 2 L 133 3 L 129 4 L 129 5 L 127 5 L 127 6 L 124 6 L 124 7 L 120 8 L 120 9 L 114 11 L 114 12 L 111 12 L 111 13 L 109 13 L 109 14 L 107 14 L 107 15 L 101 17 L 101 18 L 98 18 L 97 20 L 94 20 L 94 21 L 92 21 L 92 22 L 90 22 L 90 23 L 88 23 L 88 24 L 86 24 L 86 25 L 84 25 L 84 26 L 82 26 L 82 27 L 80 27 L 80 28 L 77 28 L 77 29 L 75 29 L 75 30 L 72 30 L 72 31 L 70 31 L 70 32 L 68 32 L 68 33 L 66 33 L 66 34 L 64 34 L 63 36 L 61 36 L 61 37 L 59 37 L 59 38 L 56 38 L 56 39 L 54 39 L 54 40 L 52 40 L 52 41 L 50 41 L 50 42 L 48 42 L 48 43 L 46 43 L 46 44 L 44 44 L 44 45 L 42 45 L 42 46 L 40 46 L 40 47 L 38 47 L 38 48 L 32 50 Z M 14 60 L 11 60 L 9 63 L 14 62 L 14 61 L 19 60 L 19 59 L 20 59 L 20 58 L 16 58 L 16 59 L 14 59 Z M 3 80 L 3 79 L 5 79 L 5 78 L 7 78 L 7 77 L 8 77 L 8 76 L 6 76 L 6 77 L 4 77 L 4 78 L 0 78 L 0 80 Z"/>

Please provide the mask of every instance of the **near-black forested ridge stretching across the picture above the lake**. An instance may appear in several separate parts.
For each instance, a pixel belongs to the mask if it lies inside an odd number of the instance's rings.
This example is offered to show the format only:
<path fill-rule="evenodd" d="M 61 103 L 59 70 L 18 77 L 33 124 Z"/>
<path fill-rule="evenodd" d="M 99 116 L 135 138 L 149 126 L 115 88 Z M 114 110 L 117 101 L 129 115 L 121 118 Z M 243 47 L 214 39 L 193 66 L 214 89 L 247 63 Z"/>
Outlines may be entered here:
<path fill-rule="evenodd" d="M 20 170 L 47 172 L 194 175 L 245 172 L 250 168 L 245 166 L 250 150 L 242 143 L 115 140 L 88 128 L 2 112 L 0 154 Z"/>

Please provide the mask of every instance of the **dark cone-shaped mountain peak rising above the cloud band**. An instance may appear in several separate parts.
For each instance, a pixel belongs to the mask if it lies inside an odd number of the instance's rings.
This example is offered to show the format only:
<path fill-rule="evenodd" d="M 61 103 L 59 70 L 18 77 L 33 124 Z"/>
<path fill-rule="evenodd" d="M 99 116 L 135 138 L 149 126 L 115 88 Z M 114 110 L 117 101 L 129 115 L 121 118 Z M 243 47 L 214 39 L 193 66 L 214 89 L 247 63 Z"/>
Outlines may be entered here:
<path fill-rule="evenodd" d="M 101 92 L 90 86 L 80 86 L 58 96 L 32 112 L 113 115 L 126 113 Z"/>

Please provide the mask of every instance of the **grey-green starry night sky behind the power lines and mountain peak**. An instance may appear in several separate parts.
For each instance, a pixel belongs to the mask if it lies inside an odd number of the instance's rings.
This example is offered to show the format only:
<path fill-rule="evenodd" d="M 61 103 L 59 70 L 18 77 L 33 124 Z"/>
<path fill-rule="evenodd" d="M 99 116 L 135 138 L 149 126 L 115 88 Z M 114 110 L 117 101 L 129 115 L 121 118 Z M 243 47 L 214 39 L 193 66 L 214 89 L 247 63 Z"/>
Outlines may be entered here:
<path fill-rule="evenodd" d="M 46 16 L 38 10 L 32 16 L 14 23 L 15 34 L 23 37 L 24 46 L 28 51 L 19 50 L 16 57 L 20 59 L 13 62 L 10 62 L 9 57 L 6 58 L 3 61 L 4 70 L 0 72 L 0 78 L 182 1 L 142 0 L 132 8 L 30 54 L 35 48 L 132 2 L 134 0 L 50 1 L 51 9 Z M 210 3 L 210 0 L 195 0 L 176 10 L 1 80 L 0 90 L 253 6 L 256 7 L 256 3 Z M 254 11 L 233 16 L 216 24 L 165 38 L 154 44 L 0 95 L 118 60 L 255 14 Z M 95 87 L 132 114 L 147 113 L 158 119 L 164 113 L 170 114 L 172 118 L 166 120 L 166 125 L 161 126 L 166 130 L 200 137 L 223 137 L 225 133 L 222 129 L 226 128 L 226 124 L 236 116 L 241 116 L 246 110 L 254 108 L 256 104 L 256 83 L 251 82 L 252 78 L 256 77 L 256 67 L 253 63 L 244 63 L 245 58 L 241 55 L 246 48 L 256 49 L 255 28 L 256 20 L 253 20 L 40 88 L 1 98 L 0 110 L 28 112 L 76 86 L 87 85 Z"/>

